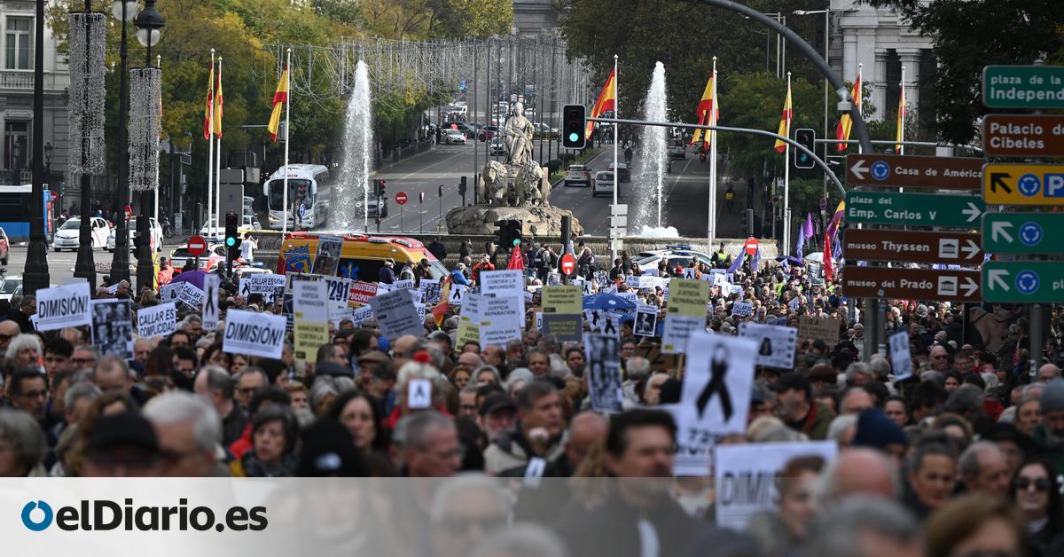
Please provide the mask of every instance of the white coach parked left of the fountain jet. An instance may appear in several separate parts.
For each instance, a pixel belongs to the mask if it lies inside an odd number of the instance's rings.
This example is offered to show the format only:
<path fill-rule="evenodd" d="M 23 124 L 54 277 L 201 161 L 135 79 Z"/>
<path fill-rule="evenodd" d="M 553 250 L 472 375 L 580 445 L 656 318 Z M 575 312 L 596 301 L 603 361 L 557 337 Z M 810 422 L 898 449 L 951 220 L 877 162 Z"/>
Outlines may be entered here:
<path fill-rule="evenodd" d="M 288 177 L 288 211 L 285 217 L 284 178 Z M 281 230 L 284 220 L 288 230 L 310 230 L 326 224 L 329 216 L 327 189 L 329 168 L 319 164 L 289 164 L 277 169 L 263 184 L 269 228 Z M 297 226 L 298 225 L 298 226 Z"/>

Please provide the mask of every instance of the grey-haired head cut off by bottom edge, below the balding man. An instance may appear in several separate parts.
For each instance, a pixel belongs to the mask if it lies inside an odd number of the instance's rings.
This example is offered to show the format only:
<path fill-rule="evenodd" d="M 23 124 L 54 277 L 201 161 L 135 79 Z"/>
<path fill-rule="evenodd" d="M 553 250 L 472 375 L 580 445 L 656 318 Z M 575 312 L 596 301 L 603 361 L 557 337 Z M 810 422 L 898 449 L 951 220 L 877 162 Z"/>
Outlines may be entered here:
<path fill-rule="evenodd" d="M 852 495 L 826 507 L 810 524 L 803 555 L 866 557 L 920 555 L 919 529 L 899 503 Z"/>

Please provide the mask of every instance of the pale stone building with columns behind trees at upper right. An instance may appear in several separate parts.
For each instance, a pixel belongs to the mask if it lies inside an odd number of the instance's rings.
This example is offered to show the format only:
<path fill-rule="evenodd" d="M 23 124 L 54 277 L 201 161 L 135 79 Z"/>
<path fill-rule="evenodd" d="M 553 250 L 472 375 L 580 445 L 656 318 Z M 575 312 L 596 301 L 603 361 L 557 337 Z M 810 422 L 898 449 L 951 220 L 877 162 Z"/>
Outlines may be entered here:
<path fill-rule="evenodd" d="M 857 0 L 831 0 L 832 68 L 843 79 L 857 79 L 859 67 L 871 85 L 868 100 L 876 107 L 869 119 L 893 118 L 901 92 L 901 67 L 905 67 L 905 99 L 911 114 L 920 113 L 920 100 L 930 95 L 921 78 L 934 71 L 931 38 L 910 28 L 894 12 Z M 907 134 L 908 135 L 908 134 Z"/>

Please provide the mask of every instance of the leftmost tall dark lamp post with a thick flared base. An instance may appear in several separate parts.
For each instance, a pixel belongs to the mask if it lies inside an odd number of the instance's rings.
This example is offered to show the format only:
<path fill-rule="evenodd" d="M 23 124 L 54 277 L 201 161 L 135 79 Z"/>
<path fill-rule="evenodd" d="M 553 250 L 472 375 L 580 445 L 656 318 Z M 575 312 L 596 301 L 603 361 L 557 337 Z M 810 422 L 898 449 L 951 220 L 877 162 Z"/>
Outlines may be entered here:
<path fill-rule="evenodd" d="M 33 40 L 33 193 L 30 197 L 30 245 L 26 253 L 23 292 L 47 289 L 48 244 L 45 242 L 45 1 L 37 0 Z"/>

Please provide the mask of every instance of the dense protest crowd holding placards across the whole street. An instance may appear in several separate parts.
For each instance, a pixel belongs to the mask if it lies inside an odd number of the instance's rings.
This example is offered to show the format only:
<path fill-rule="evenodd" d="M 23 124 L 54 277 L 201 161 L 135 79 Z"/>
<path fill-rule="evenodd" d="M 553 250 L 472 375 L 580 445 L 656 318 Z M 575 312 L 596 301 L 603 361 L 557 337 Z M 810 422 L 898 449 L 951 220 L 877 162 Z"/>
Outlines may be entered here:
<path fill-rule="evenodd" d="M 1064 555 L 1061 307 L 1032 373 L 1018 307 L 885 300 L 867 355 L 830 274 L 552 253 L 16 295 L 0 475 L 453 477 L 412 555 Z"/>

